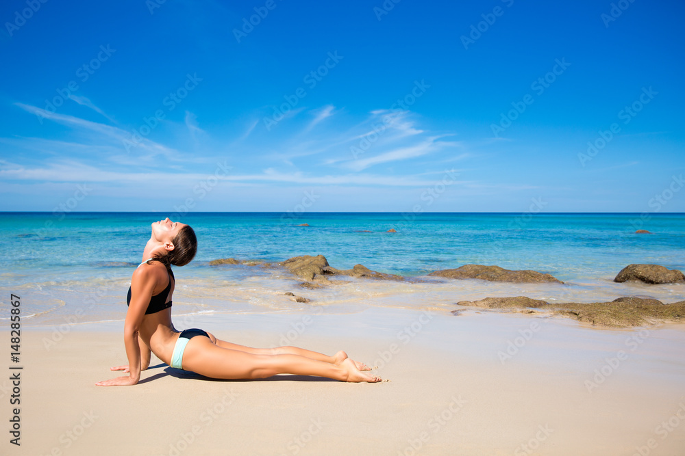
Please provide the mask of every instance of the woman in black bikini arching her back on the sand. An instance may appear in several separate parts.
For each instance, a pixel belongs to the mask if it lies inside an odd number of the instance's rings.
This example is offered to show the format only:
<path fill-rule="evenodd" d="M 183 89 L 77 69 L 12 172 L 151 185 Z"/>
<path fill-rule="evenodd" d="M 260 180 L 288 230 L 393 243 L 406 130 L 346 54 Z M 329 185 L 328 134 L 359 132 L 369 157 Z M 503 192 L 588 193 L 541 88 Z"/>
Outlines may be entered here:
<path fill-rule="evenodd" d="M 363 373 L 364 364 L 344 351 L 325 356 L 297 347 L 253 349 L 219 340 L 203 330 L 177 332 L 171 323 L 175 280 L 171 265 L 190 263 L 197 251 L 195 232 L 167 217 L 152 224 L 152 236 L 131 278 L 124 323 L 128 366 L 112 367 L 129 375 L 99 381 L 97 386 L 135 385 L 150 365 L 150 352 L 172 367 L 217 379 L 258 379 L 280 373 L 318 375 L 342 381 L 380 381 Z M 147 259 L 145 259 L 147 258 Z"/>

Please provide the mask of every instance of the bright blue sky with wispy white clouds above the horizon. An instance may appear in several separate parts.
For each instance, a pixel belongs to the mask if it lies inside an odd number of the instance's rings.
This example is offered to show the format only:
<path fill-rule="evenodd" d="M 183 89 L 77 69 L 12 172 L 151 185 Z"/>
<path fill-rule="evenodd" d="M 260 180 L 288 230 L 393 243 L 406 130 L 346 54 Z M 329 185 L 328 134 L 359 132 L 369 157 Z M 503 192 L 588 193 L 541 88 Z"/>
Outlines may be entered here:
<path fill-rule="evenodd" d="M 3 2 L 0 211 L 685 210 L 682 2 L 465 3 Z"/>

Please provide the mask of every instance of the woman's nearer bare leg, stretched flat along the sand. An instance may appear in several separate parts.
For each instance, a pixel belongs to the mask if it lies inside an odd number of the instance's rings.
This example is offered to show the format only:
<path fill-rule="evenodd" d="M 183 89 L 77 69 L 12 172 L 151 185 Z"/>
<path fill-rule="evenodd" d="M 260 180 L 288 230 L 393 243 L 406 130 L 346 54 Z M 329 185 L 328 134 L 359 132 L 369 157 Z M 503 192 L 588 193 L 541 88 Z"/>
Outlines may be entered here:
<path fill-rule="evenodd" d="M 316 375 L 341 381 L 381 380 L 360 372 L 349 359 L 343 360 L 338 366 L 296 354 L 258 355 L 219 347 L 203 336 L 188 341 L 182 364 L 186 371 L 217 379 L 258 379 L 288 373 Z"/>

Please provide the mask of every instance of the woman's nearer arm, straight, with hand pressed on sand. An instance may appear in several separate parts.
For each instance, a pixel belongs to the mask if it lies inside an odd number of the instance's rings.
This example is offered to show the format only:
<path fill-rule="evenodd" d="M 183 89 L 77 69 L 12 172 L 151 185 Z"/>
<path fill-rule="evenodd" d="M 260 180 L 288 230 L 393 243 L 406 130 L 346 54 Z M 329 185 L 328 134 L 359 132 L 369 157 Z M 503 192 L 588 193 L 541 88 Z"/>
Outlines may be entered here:
<path fill-rule="evenodd" d="M 145 343 L 141 344 L 142 340 L 140 340 L 138 331 L 140 330 L 142 319 L 145 317 L 145 310 L 152 297 L 154 288 L 155 276 L 152 268 L 139 267 L 134 271 L 131 278 L 131 303 L 124 321 L 124 346 L 126 348 L 126 357 L 129 360 L 129 375 L 99 381 L 96 384 L 97 386 L 135 385 L 140 380 L 141 361 L 147 364 L 145 368 L 149 366 L 149 348 L 147 348 Z M 147 349 L 147 356 L 142 351 L 143 347 Z"/>

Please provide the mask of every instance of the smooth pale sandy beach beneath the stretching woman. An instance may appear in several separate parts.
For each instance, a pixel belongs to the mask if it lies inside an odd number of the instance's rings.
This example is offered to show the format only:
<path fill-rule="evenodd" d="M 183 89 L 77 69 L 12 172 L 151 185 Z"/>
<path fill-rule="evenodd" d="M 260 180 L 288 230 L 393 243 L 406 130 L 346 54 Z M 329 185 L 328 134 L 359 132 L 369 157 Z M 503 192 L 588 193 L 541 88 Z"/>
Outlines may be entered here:
<path fill-rule="evenodd" d="M 16 455 L 676 455 L 685 451 L 685 325 L 599 330 L 466 310 L 235 314 L 219 338 L 288 340 L 373 363 L 380 384 L 279 375 L 216 381 L 153 356 L 133 387 L 123 322 L 23 336 Z M 57 340 L 55 340 L 57 339 Z M 49 341 L 49 342 L 47 342 Z M 49 348 L 47 348 L 49 347 Z M 8 387 L 5 380 L 3 388 Z M 3 389 L 3 395 L 8 395 Z M 670 423 L 670 424 L 669 424 Z M 642 451 L 642 453 L 640 453 Z"/>

